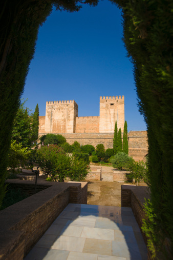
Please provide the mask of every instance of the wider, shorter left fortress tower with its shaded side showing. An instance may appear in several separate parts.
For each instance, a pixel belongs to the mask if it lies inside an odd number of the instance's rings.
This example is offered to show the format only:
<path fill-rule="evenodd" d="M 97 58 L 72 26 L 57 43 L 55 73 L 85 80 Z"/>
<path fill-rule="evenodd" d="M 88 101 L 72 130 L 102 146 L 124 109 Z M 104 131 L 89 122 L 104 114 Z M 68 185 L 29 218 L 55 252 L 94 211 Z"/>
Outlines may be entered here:
<path fill-rule="evenodd" d="M 75 133 L 78 105 L 73 101 L 46 103 L 45 133 Z"/>

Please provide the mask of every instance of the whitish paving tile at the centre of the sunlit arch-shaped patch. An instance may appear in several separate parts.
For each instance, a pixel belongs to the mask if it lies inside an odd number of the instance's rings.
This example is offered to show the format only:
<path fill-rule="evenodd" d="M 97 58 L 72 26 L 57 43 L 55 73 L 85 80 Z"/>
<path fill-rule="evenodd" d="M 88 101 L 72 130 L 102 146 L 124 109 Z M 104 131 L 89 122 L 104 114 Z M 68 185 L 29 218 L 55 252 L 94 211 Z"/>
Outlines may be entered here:
<path fill-rule="evenodd" d="M 114 241 L 114 230 L 84 227 L 80 237 Z"/>

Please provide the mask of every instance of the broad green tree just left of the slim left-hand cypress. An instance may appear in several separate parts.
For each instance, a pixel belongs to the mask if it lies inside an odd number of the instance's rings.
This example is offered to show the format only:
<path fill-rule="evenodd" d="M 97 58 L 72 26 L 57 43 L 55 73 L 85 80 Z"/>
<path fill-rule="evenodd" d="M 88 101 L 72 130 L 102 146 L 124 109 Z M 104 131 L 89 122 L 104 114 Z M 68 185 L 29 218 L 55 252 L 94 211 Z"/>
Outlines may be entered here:
<path fill-rule="evenodd" d="M 20 104 L 17 114 L 14 118 L 12 129 L 12 140 L 16 141 L 16 144 L 21 144 L 23 147 L 32 146 L 32 116 L 30 110 L 25 107 L 26 101 Z"/>

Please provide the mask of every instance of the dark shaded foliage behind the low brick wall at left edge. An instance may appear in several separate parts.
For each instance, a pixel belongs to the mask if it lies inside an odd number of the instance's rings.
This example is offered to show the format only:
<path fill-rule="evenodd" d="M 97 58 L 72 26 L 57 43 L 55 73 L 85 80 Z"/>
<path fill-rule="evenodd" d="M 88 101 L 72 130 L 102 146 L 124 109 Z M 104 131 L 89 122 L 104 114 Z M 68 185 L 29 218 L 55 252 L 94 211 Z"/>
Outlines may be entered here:
<path fill-rule="evenodd" d="M 1 206 L 1 210 L 10 207 L 11 205 L 22 201 L 23 199 L 27 198 L 28 196 L 21 192 L 20 189 L 14 190 L 10 189 L 10 187 L 7 188 L 7 193 L 3 199 L 3 203 Z"/>

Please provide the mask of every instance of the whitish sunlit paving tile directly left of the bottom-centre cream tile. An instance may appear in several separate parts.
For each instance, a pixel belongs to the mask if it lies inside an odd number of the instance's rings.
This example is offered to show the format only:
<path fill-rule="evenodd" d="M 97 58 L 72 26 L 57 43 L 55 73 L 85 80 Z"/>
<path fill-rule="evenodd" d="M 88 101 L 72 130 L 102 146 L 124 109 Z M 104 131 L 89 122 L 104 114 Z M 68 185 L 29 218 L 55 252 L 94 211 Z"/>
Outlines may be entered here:
<path fill-rule="evenodd" d="M 59 236 L 51 249 L 82 252 L 85 238 L 73 236 Z"/>

